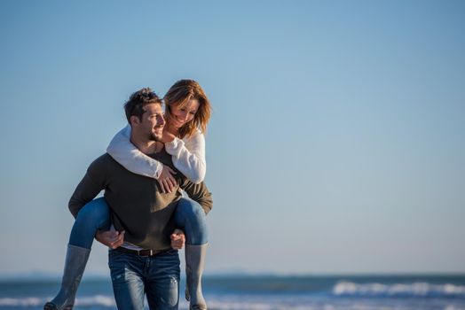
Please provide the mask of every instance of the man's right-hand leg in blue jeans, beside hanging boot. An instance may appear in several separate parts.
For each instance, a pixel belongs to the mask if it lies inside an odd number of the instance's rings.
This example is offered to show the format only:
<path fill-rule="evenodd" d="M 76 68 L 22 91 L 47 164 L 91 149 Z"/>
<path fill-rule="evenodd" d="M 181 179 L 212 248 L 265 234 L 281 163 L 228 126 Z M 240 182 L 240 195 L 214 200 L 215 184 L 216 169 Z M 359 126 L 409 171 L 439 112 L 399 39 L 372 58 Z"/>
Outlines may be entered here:
<path fill-rule="evenodd" d="M 177 310 L 179 302 L 179 255 L 162 252 L 149 259 L 146 294 L 150 309 Z"/>

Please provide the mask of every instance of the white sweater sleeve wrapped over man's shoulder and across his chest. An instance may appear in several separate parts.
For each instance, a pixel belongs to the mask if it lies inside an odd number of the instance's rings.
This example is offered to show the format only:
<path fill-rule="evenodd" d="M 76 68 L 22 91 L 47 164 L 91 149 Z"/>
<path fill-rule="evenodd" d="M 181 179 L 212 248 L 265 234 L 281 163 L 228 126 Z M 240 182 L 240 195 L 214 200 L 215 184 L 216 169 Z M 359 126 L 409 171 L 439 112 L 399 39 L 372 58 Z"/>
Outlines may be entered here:
<path fill-rule="evenodd" d="M 106 152 L 122 167 L 134 174 L 145 175 L 158 179 L 162 173 L 163 164 L 152 159 L 130 143 L 130 125 L 122 128 L 112 139 Z"/>

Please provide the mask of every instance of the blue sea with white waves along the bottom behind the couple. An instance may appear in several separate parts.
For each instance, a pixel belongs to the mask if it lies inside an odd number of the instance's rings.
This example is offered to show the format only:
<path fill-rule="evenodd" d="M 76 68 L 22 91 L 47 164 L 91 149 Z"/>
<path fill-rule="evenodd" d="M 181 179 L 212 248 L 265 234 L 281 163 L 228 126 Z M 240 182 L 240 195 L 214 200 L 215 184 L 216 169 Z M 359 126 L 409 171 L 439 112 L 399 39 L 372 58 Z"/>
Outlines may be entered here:
<path fill-rule="evenodd" d="M 58 290 L 57 280 L 0 280 L 0 309 L 42 309 Z M 203 291 L 210 310 L 465 310 L 465 275 L 209 275 Z M 116 309 L 109 277 L 84 276 L 75 309 Z"/>

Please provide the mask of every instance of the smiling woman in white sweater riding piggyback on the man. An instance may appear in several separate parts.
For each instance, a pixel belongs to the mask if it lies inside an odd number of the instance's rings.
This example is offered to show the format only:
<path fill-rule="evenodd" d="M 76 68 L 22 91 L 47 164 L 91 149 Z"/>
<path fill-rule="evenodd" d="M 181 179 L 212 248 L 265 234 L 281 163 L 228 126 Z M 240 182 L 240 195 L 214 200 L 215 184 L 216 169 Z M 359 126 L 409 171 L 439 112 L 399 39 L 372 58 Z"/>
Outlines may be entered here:
<path fill-rule="evenodd" d="M 193 182 L 205 176 L 205 138 L 211 107 L 199 83 L 193 80 L 177 81 L 164 97 L 166 125 L 162 142 L 172 155 L 173 164 Z M 172 191 L 176 174 L 169 167 L 146 156 L 130 143 L 130 126 L 123 128 L 110 143 L 107 152 L 123 167 L 135 174 L 155 178 L 162 191 Z M 205 213 L 201 205 L 182 198 L 173 214 L 178 228 L 185 231 L 186 298 L 190 309 L 207 309 L 201 292 L 201 275 L 208 244 Z M 67 249 L 65 271 L 59 294 L 43 307 L 71 309 L 75 292 L 91 252 L 93 238 L 99 230 L 110 226 L 109 208 L 104 198 L 85 205 L 79 212 Z"/>

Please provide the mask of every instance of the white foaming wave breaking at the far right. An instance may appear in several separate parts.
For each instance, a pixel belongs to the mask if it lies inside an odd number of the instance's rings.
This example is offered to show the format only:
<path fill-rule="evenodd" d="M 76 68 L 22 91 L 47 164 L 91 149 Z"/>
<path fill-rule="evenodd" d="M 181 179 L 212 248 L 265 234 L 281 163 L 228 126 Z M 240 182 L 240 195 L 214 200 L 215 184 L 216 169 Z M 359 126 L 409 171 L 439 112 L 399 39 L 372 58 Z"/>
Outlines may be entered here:
<path fill-rule="evenodd" d="M 457 297 L 465 298 L 465 286 L 431 283 L 336 283 L 333 294 L 337 296 L 406 296 L 406 297 Z"/>

